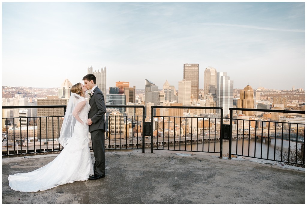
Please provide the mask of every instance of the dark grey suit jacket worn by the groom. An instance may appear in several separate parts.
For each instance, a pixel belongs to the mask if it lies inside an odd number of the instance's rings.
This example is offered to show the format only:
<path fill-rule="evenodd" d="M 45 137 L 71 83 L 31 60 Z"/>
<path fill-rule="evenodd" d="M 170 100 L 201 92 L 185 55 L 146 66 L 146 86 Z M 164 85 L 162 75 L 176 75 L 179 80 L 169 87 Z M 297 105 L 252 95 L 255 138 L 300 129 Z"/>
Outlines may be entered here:
<path fill-rule="evenodd" d="M 92 120 L 92 124 L 89 126 L 89 132 L 94 130 L 106 130 L 106 117 L 107 112 L 106 105 L 104 103 L 104 96 L 102 91 L 96 87 L 94 89 L 94 94 L 89 100 L 91 109 L 88 113 L 88 118 Z"/>

